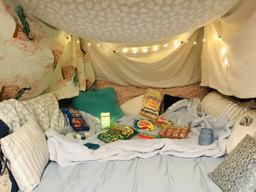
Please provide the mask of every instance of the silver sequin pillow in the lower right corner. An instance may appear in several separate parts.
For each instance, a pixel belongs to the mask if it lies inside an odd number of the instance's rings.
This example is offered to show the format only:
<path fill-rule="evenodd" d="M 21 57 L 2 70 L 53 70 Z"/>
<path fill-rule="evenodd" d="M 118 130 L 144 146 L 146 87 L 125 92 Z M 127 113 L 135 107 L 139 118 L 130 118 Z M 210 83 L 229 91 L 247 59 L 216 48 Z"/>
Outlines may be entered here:
<path fill-rule="evenodd" d="M 209 176 L 224 192 L 253 192 L 256 189 L 256 140 L 246 135 Z"/>

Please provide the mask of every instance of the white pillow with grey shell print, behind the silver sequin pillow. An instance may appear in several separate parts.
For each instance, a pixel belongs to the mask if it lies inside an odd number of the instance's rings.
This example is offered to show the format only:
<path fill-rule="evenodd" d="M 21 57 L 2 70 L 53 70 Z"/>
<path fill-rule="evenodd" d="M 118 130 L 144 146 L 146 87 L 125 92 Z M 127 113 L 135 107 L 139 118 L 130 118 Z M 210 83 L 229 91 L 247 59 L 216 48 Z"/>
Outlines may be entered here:
<path fill-rule="evenodd" d="M 247 119 L 252 118 L 252 123 L 250 124 L 250 120 L 248 125 L 243 126 L 240 125 L 239 122 L 244 118 L 249 117 Z M 244 122 L 244 121 L 243 121 Z M 242 122 L 241 122 L 242 123 Z M 233 127 L 230 129 L 230 136 L 227 138 L 226 145 L 226 154 L 228 155 L 232 149 L 248 134 L 254 138 L 256 138 L 256 110 L 246 111 L 245 113 L 238 116 L 235 120 Z"/>

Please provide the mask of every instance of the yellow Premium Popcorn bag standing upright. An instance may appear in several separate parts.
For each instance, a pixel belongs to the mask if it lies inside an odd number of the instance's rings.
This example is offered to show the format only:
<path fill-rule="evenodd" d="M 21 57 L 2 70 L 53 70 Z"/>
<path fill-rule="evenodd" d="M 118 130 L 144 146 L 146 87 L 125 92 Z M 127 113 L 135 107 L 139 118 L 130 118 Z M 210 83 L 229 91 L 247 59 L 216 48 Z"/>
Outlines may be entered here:
<path fill-rule="evenodd" d="M 148 88 L 139 114 L 152 120 L 156 119 L 159 115 L 162 101 L 163 95 L 159 91 Z"/>

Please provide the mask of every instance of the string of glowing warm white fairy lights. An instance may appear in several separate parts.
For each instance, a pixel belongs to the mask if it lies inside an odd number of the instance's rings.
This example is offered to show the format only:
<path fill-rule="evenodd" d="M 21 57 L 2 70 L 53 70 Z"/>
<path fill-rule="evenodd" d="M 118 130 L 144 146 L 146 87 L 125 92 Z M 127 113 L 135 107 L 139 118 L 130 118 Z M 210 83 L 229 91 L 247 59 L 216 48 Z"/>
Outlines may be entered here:
<path fill-rule="evenodd" d="M 221 40 L 221 36 L 218 36 L 217 34 L 216 35 L 214 35 L 214 37 L 213 37 L 215 40 L 219 40 L 219 41 L 221 41 L 221 42 L 223 42 L 222 40 Z M 70 42 L 71 41 L 71 35 L 69 36 L 69 37 L 67 37 L 67 40 L 68 40 L 68 42 Z M 202 41 L 204 42 L 204 41 L 206 41 L 206 39 L 202 39 Z M 77 40 L 77 43 L 80 43 L 80 41 L 79 40 Z M 188 40 L 185 40 L 185 41 L 181 41 L 181 42 L 179 42 L 178 40 L 176 40 L 176 41 L 174 41 L 174 48 L 176 49 L 176 48 L 178 48 L 181 44 L 183 44 L 183 43 L 193 43 L 194 45 L 196 45 L 197 44 L 197 41 L 192 41 L 192 42 L 189 42 Z M 157 51 L 157 50 L 159 50 L 160 48 L 166 48 L 166 47 L 168 47 L 168 46 L 171 46 L 171 44 L 172 43 L 166 43 L 166 44 L 164 44 L 164 45 L 155 45 L 155 46 L 151 46 L 151 47 L 132 47 L 132 48 L 127 48 L 127 47 L 123 47 L 121 50 L 111 50 L 111 51 L 113 51 L 114 53 L 116 53 L 116 52 L 118 52 L 118 53 L 128 53 L 128 52 L 132 52 L 132 53 L 134 53 L 134 54 L 136 54 L 136 53 L 138 53 L 138 52 L 140 52 L 140 53 L 147 53 L 147 52 L 149 52 L 150 50 L 152 50 L 152 51 Z M 88 46 L 91 46 L 92 44 L 90 43 L 90 42 L 88 42 L 88 44 L 87 44 Z M 100 47 L 100 44 L 98 43 L 97 44 L 97 47 Z M 107 50 L 110 50 L 110 49 L 107 49 L 107 48 L 105 48 L 105 51 L 107 51 Z M 227 48 L 226 48 L 226 46 L 223 46 L 222 47 L 222 49 L 221 49 L 221 55 L 224 57 L 224 66 L 226 67 L 227 65 L 228 65 L 228 61 L 227 61 L 227 57 L 226 57 L 226 54 L 227 54 Z"/>

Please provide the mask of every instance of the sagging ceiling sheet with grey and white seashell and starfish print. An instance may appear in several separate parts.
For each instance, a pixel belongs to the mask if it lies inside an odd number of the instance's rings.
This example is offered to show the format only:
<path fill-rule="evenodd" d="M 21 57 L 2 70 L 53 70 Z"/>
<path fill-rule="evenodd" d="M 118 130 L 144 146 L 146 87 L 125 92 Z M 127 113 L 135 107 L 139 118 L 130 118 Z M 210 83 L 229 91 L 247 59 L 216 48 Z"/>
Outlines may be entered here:
<path fill-rule="evenodd" d="M 131 43 L 174 37 L 214 21 L 238 0 L 18 0 L 42 21 L 90 40 Z"/>

